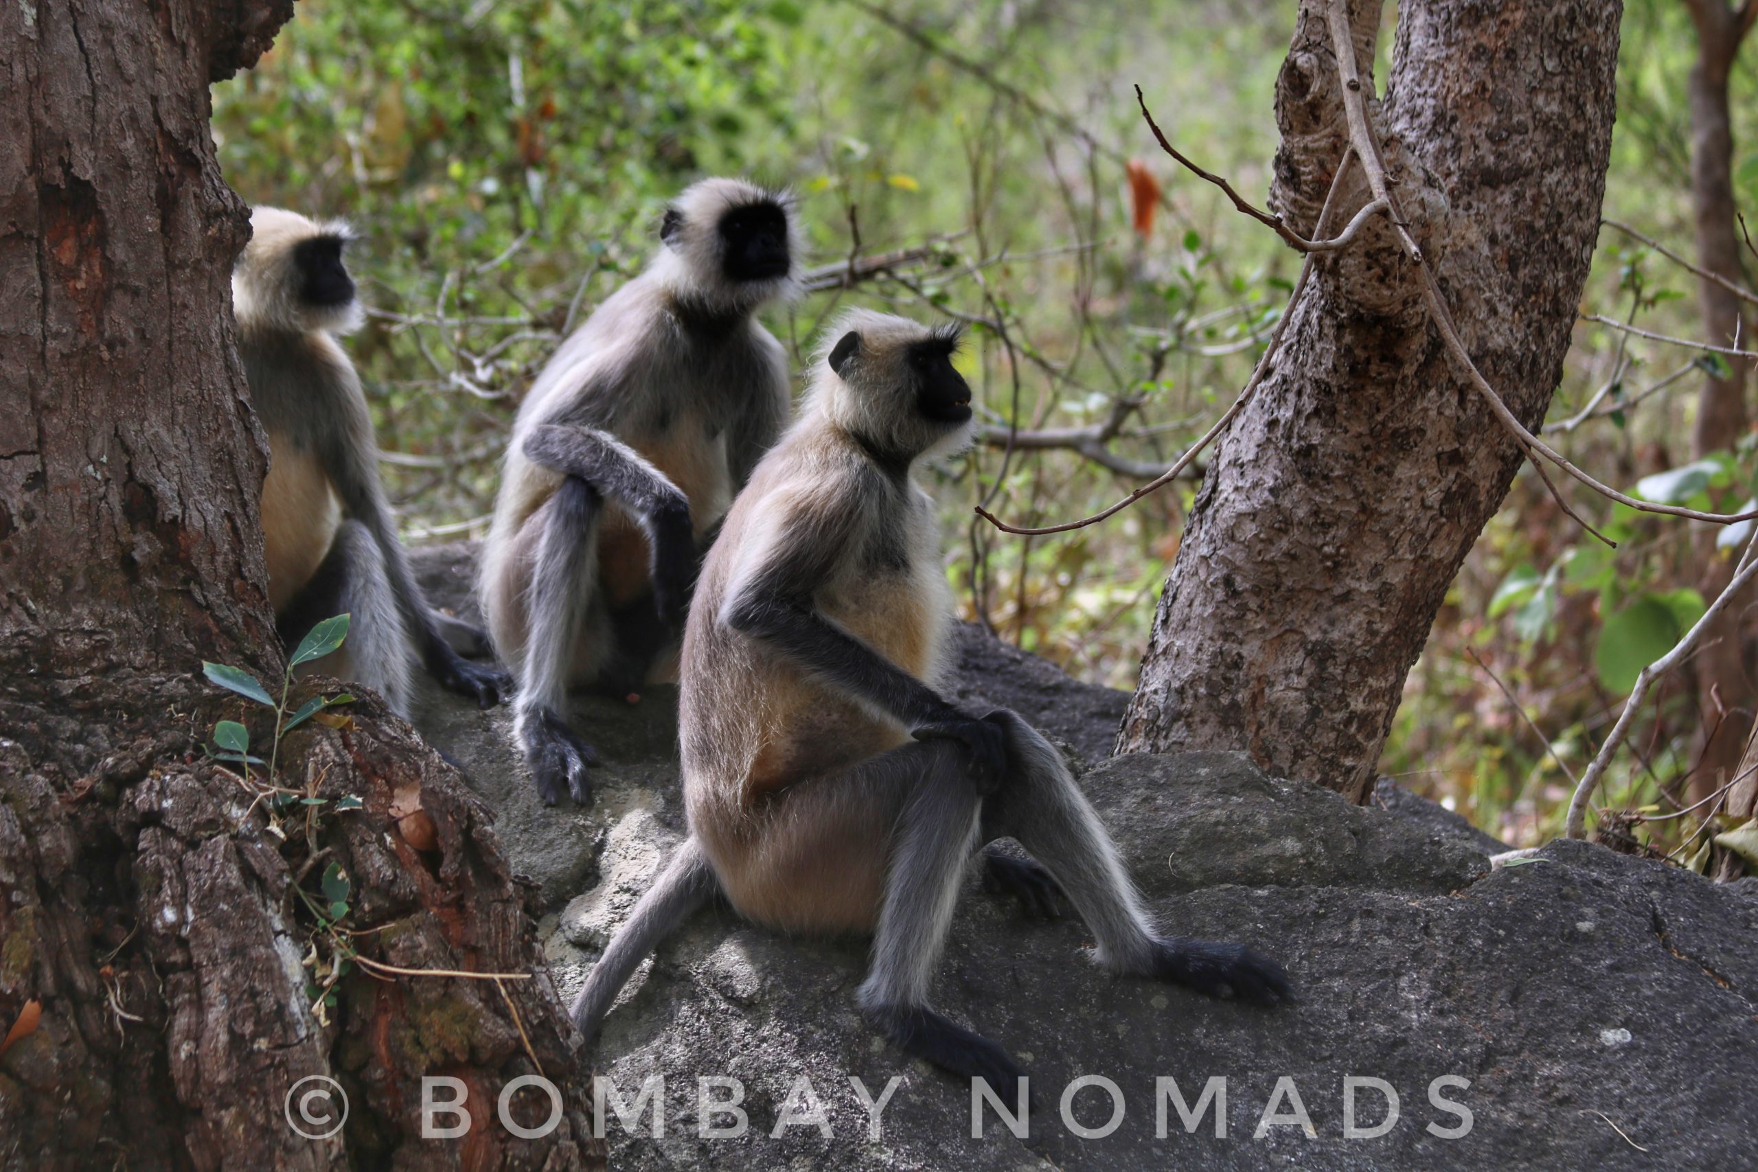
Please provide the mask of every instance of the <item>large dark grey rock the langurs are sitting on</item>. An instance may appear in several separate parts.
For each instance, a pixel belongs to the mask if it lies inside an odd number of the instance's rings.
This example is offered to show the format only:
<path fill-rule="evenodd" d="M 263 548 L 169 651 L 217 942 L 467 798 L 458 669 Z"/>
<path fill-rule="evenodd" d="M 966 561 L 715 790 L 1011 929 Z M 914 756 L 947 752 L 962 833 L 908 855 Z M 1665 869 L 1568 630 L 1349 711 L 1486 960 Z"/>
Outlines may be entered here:
<path fill-rule="evenodd" d="M 425 552 L 418 569 L 438 603 L 469 613 L 455 550 Z M 1491 872 L 1487 854 L 1501 843 L 1389 782 L 1380 808 L 1359 808 L 1234 754 L 1106 761 L 1123 694 L 1076 684 L 970 627 L 958 636 L 955 692 L 1016 708 L 1097 763 L 1083 785 L 1160 922 L 1280 958 L 1301 1003 L 1266 1012 L 1111 979 L 1085 963 L 1078 921 L 1023 921 L 972 882 L 935 1000 L 1034 1075 L 1027 1135 L 984 1107 L 974 1139 L 969 1088 L 905 1060 L 856 1016 L 860 942 L 784 940 L 714 908 L 643 965 L 605 1024 L 596 1063 L 624 1100 L 665 1077 L 661 1137 L 650 1107 L 631 1126 L 607 1112 L 612 1167 L 1753 1165 L 1758 884 L 1716 887 L 1570 842 Z M 418 719 L 496 808 L 513 866 L 541 884 L 547 954 L 564 995 L 682 835 L 675 689 L 635 706 L 582 699 L 575 722 L 605 759 L 587 810 L 543 808 L 505 712 L 432 698 Z M 874 1096 L 902 1079 L 877 1139 L 851 1075 Z M 1078 1133 L 1106 1128 L 1115 1109 L 1104 1086 L 1078 1089 L 1072 1114 L 1064 1111 L 1065 1088 L 1083 1075 L 1116 1086 L 1123 1116 L 1109 1135 Z M 1345 1137 L 1345 1075 L 1396 1091 L 1399 1114 L 1382 1135 Z M 698 1077 L 742 1084 L 744 1133 L 700 1132 L 737 1130 L 737 1118 L 698 1116 Z M 802 1077 L 823 1130 L 810 1100 L 788 1114 Z M 1174 1079 L 1195 1103 L 1217 1077 L 1225 1111 L 1206 1105 L 1187 1132 L 1178 1107 L 1166 1107 L 1157 1137 L 1157 1079 Z M 1443 1077 L 1457 1081 L 1435 1084 Z M 1431 1132 L 1464 1123 L 1436 1098 L 1471 1112 L 1463 1137 Z M 1355 1103 L 1357 1128 L 1373 1132 L 1387 1116 L 1373 1086 Z M 1260 1128 L 1266 1116 L 1282 1123 Z"/>

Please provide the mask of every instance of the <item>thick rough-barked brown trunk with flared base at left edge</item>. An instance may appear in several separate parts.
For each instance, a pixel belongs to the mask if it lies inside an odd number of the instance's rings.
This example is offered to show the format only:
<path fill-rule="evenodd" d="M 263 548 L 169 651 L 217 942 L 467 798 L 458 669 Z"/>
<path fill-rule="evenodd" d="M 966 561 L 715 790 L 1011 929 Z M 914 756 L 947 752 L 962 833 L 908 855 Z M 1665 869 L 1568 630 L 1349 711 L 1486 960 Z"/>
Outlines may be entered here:
<path fill-rule="evenodd" d="M 267 450 L 230 334 L 248 221 L 214 160 L 207 86 L 290 14 L 292 0 L 0 5 L 5 1168 L 594 1160 L 547 975 L 508 980 L 508 1002 L 494 982 L 357 972 L 332 1024 L 311 1012 L 315 921 L 295 887 L 315 886 L 313 857 L 352 877 L 350 922 L 380 930 L 362 954 L 540 965 L 459 777 L 364 699 L 345 727 L 285 745 L 281 777 L 331 805 L 283 843 L 195 752 L 216 715 L 244 715 L 199 680 L 200 661 L 269 678 L 281 662 L 255 504 Z M 364 808 L 334 814 L 345 794 Z M 392 817 L 415 794 L 431 833 Z M 515 1140 L 492 1103 L 534 1063 L 564 1118 Z M 468 1142 L 415 1139 L 427 1072 L 464 1079 Z M 313 1142 L 283 1119 L 304 1075 L 350 1095 L 339 1135 Z M 515 1100 L 526 1125 L 548 1114 L 531 1098 Z"/>

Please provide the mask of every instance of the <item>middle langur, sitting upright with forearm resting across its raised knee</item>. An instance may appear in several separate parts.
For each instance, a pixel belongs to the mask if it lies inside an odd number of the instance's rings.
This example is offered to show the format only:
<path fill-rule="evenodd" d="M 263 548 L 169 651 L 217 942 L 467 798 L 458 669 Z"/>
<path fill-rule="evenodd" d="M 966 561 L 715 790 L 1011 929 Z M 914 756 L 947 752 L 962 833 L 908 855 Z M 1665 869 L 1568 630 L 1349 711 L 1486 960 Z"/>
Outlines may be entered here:
<path fill-rule="evenodd" d="M 659 237 L 519 408 L 482 555 L 482 610 L 519 676 L 513 733 L 548 805 L 585 803 L 598 759 L 568 727 L 568 689 L 668 675 L 698 550 L 793 397 L 754 316 L 796 288 L 793 200 L 703 179 Z"/>

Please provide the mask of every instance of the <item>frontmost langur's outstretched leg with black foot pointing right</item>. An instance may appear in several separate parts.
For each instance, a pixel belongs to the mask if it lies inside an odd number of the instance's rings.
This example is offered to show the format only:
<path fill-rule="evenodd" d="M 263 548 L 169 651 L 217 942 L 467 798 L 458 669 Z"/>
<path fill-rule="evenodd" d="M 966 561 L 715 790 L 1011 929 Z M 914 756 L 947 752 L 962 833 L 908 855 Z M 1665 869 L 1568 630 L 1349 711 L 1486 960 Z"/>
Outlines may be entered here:
<path fill-rule="evenodd" d="M 1062 754 L 1006 708 L 986 719 L 1007 731 L 1011 777 L 984 803 L 983 833 L 1016 838 L 1050 868 L 1092 930 L 1099 963 L 1118 973 L 1176 980 L 1211 996 L 1264 1005 L 1294 1000 L 1282 966 L 1245 945 L 1159 935 L 1111 835 Z"/>

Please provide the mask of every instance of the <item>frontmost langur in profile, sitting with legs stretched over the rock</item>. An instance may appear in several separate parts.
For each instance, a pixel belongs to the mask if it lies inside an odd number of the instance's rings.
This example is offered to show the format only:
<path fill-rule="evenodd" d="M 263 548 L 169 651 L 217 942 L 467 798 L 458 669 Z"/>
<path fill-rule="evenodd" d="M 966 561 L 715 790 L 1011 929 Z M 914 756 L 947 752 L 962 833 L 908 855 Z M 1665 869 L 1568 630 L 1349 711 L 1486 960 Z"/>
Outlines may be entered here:
<path fill-rule="evenodd" d="M 573 1003 L 594 1037 L 642 958 L 716 894 L 788 933 L 872 933 L 860 988 L 902 1051 L 1011 1091 L 995 1042 L 928 1007 L 972 854 L 1023 903 L 1064 894 L 1115 973 L 1215 996 L 1292 1000 L 1257 952 L 1164 937 L 1062 756 L 1016 713 L 976 717 L 932 685 L 949 597 L 933 504 L 914 480 L 969 441 L 958 336 L 846 315 L 800 420 L 758 466 L 708 552 L 684 636 L 689 838 Z M 1048 872 L 1048 873 L 1046 873 Z"/>

